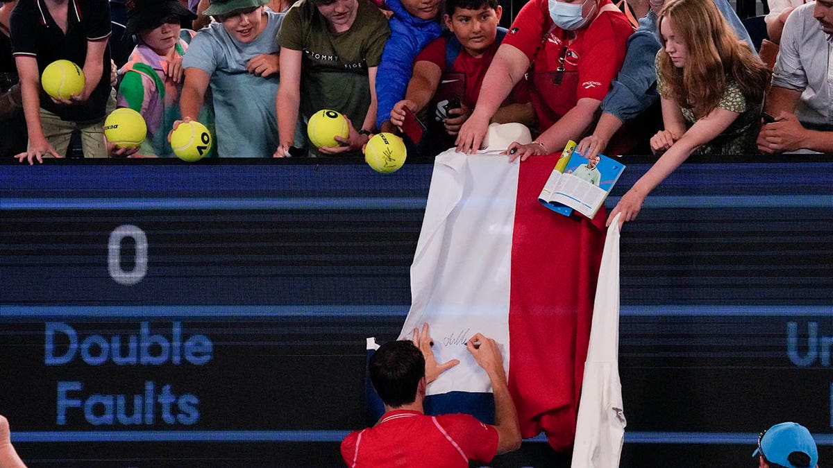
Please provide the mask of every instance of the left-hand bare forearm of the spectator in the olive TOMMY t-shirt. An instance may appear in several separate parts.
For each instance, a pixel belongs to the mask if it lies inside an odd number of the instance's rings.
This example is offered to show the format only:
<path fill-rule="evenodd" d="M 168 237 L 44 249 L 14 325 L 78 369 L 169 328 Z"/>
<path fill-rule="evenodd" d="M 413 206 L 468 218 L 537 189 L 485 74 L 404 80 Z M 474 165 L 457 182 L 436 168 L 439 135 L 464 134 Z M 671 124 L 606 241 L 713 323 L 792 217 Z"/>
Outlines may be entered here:
<path fill-rule="evenodd" d="M 295 144 L 298 106 L 301 104 L 301 51 L 281 49 L 281 86 L 277 88 L 277 136 L 275 157 L 289 155 Z"/>

